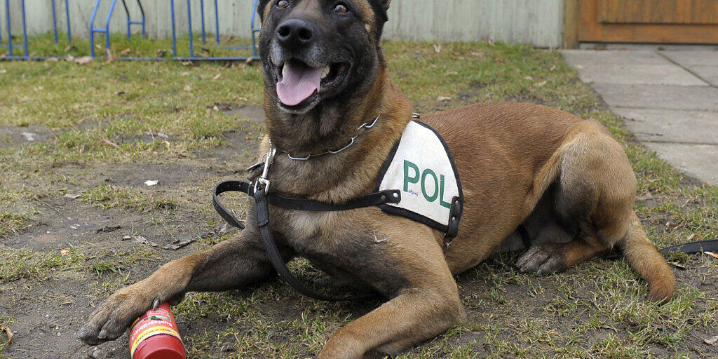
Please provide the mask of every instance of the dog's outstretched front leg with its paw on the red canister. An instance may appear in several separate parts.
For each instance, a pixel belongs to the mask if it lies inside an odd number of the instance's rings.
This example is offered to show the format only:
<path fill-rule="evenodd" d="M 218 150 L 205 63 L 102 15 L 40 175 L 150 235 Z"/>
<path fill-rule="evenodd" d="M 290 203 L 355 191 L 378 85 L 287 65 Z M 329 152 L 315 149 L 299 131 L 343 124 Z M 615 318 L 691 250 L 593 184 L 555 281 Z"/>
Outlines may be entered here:
<path fill-rule="evenodd" d="M 77 337 L 90 345 L 114 340 L 142 313 L 163 302 L 177 304 L 186 292 L 238 288 L 272 273 L 261 244 L 243 232 L 207 251 L 171 261 L 147 279 L 118 290 L 95 309 Z"/>

